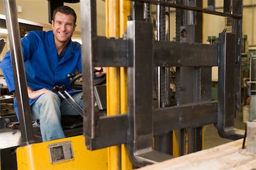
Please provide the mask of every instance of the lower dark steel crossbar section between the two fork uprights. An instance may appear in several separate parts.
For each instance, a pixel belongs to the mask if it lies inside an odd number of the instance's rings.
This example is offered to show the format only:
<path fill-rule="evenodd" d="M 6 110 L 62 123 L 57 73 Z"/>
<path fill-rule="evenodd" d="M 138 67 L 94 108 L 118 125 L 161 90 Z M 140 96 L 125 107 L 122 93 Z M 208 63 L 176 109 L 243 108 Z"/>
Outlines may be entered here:
<path fill-rule="evenodd" d="M 184 127 L 201 127 L 216 123 L 217 111 L 217 101 L 154 109 L 154 135 Z"/>

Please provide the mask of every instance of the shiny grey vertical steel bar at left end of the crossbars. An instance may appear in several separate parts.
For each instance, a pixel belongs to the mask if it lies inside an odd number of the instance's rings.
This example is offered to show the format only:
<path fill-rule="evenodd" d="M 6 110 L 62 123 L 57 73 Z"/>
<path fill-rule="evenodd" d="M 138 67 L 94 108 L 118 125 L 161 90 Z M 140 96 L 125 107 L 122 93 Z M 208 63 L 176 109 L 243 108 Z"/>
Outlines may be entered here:
<path fill-rule="evenodd" d="M 86 80 L 82 86 L 84 89 L 84 135 L 87 147 L 90 147 L 90 139 L 95 137 L 94 102 L 93 102 L 93 43 L 97 36 L 96 30 L 96 1 L 81 1 L 81 24 L 82 24 L 82 78 Z"/>

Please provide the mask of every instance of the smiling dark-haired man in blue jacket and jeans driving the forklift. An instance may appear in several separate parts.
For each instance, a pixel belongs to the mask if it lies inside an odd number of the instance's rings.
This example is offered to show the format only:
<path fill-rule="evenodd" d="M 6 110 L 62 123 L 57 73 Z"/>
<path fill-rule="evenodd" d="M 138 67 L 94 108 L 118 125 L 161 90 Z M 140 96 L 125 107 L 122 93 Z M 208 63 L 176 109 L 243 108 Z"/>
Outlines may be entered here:
<path fill-rule="evenodd" d="M 82 92 L 73 91 L 67 78 L 69 73 L 75 74 L 76 69 L 79 72 L 82 69 L 81 45 L 71 40 L 76 28 L 75 11 L 68 6 L 57 7 L 53 11 L 52 28 L 53 31 L 48 32 L 31 31 L 21 40 L 32 119 L 40 121 L 43 142 L 64 138 L 61 115 L 78 114 L 68 102 L 51 91 L 56 85 L 65 85 L 81 107 L 83 103 L 80 99 Z M 14 92 L 10 52 L 2 60 L 1 68 L 9 91 Z M 16 101 L 14 107 L 18 113 Z"/>

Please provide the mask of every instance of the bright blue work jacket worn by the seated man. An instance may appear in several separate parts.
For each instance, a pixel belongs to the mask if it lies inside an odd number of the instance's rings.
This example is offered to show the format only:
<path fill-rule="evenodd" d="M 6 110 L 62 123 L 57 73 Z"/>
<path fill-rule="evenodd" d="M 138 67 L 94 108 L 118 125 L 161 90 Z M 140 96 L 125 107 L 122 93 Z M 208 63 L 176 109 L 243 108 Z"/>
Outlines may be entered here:
<path fill-rule="evenodd" d="M 65 85 L 69 93 L 78 93 L 69 86 L 67 75 L 75 74 L 76 69 L 81 72 L 81 45 L 69 41 L 64 57 L 58 61 L 58 55 L 52 31 L 31 31 L 22 40 L 22 52 L 24 68 L 27 78 L 27 86 L 32 90 L 52 90 L 56 85 Z M 1 61 L 1 69 L 6 78 L 10 92 L 15 92 L 13 69 L 11 66 L 10 51 Z M 38 98 L 36 98 L 38 99 Z M 30 106 L 36 99 L 29 99 Z M 16 99 L 14 109 L 18 115 Z"/>

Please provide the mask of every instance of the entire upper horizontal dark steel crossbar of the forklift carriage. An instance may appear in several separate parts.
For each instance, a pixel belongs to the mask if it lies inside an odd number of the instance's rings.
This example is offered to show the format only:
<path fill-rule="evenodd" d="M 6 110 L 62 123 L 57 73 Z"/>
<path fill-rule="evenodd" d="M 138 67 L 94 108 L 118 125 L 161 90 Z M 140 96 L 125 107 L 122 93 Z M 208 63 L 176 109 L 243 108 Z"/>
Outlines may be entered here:
<path fill-rule="evenodd" d="M 94 40 L 95 66 L 127 67 L 125 38 L 105 38 Z M 154 66 L 161 67 L 213 67 L 218 66 L 217 45 L 154 41 Z"/>

